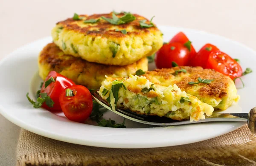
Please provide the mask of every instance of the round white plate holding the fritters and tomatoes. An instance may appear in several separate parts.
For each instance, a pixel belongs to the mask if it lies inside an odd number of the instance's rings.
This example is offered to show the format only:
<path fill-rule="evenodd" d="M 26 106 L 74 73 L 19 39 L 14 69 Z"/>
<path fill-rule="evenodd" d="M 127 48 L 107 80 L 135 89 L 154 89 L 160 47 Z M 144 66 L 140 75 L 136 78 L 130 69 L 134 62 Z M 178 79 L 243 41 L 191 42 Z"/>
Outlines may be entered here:
<path fill-rule="evenodd" d="M 215 44 L 233 58 L 240 59 L 243 69 L 250 67 L 256 71 L 256 52 L 238 42 L 203 31 L 168 26 L 159 26 L 159 28 L 164 34 L 164 41 L 169 41 L 178 31 L 183 31 L 193 41 L 196 50 L 207 42 Z M 48 138 L 82 145 L 152 148 L 207 140 L 231 132 L 245 124 L 243 122 L 216 122 L 176 127 L 152 127 L 127 120 L 128 128 L 116 129 L 91 125 L 93 121 L 90 120 L 87 124 L 76 123 L 69 121 L 62 114 L 55 115 L 43 109 L 34 109 L 27 101 L 26 93 L 29 91 L 32 96 L 38 90 L 41 79 L 37 74 L 37 57 L 41 49 L 49 42 L 52 42 L 51 37 L 32 42 L 12 52 L 0 62 L 0 113 L 26 130 Z M 151 64 L 152 68 L 154 66 Z M 256 72 L 243 76 L 243 80 L 245 87 L 238 89 L 240 101 L 224 113 L 248 113 L 252 107 L 256 106 L 254 85 Z M 237 87 L 241 87 L 239 80 L 237 80 Z M 35 100 L 35 96 L 33 98 Z M 104 117 L 111 117 L 117 122 L 122 121 L 122 117 L 110 111 Z"/>

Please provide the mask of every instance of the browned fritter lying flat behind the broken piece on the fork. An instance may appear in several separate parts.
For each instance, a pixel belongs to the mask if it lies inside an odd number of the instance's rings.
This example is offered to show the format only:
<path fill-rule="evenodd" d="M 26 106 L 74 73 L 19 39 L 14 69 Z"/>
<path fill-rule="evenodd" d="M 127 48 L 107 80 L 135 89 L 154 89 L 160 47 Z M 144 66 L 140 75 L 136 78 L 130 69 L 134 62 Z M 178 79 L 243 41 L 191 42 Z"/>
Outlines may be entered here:
<path fill-rule="evenodd" d="M 181 69 L 185 69 L 186 73 L 180 71 Z M 177 74 L 175 71 L 178 71 Z M 226 110 L 233 101 L 237 102 L 239 100 L 233 80 L 212 69 L 180 66 L 169 69 L 155 69 L 146 72 L 143 76 L 154 84 L 166 87 L 176 84 L 182 91 L 198 97 L 215 109 Z M 209 84 L 188 84 L 189 82 L 198 82 L 199 77 L 214 80 Z"/>

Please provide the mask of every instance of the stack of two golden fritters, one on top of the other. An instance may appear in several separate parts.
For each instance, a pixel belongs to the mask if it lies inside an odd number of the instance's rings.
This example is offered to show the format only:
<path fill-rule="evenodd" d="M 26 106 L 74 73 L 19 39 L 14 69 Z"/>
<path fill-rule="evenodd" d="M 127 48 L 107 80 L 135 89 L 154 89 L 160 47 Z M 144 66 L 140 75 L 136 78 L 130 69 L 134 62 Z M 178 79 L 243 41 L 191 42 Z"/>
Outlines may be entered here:
<path fill-rule="evenodd" d="M 77 84 L 98 89 L 105 75 L 128 77 L 138 69 L 148 70 L 146 56 L 163 45 L 161 31 L 156 26 L 141 28 L 142 20 L 151 23 L 137 14 L 134 21 L 120 25 L 111 24 L 102 16 L 112 19 L 112 13 L 80 15 L 79 19 L 57 23 L 52 29 L 54 43 L 46 45 L 38 58 L 42 79 L 55 70 Z M 84 23 L 91 19 L 97 21 Z"/>

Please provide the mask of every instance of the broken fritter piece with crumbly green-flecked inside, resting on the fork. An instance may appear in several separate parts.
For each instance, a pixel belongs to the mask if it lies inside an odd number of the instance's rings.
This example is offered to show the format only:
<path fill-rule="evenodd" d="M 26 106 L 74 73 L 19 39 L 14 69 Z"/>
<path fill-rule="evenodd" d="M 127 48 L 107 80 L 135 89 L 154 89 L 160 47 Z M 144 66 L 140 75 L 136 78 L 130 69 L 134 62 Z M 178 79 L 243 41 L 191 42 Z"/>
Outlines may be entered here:
<path fill-rule="evenodd" d="M 197 97 L 181 91 L 177 85 L 164 87 L 149 82 L 143 76 L 108 77 L 102 82 L 99 95 L 113 110 L 123 107 L 145 115 L 166 116 L 174 120 L 198 121 L 213 112 L 213 107 Z"/>

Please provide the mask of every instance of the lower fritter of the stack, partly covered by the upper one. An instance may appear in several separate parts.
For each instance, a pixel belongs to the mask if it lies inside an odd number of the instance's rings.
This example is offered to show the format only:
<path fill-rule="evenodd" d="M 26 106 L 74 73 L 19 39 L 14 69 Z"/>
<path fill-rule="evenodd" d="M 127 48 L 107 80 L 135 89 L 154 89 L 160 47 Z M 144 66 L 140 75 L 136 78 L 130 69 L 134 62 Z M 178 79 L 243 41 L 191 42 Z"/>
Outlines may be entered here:
<path fill-rule="evenodd" d="M 102 65 L 87 62 L 81 58 L 66 55 L 54 43 L 49 43 L 44 47 L 38 57 L 39 75 L 45 79 L 49 71 L 54 70 L 77 84 L 87 88 L 99 89 L 105 75 L 112 77 L 128 77 L 135 74 L 138 69 L 148 70 L 148 59 L 126 66 Z"/>

